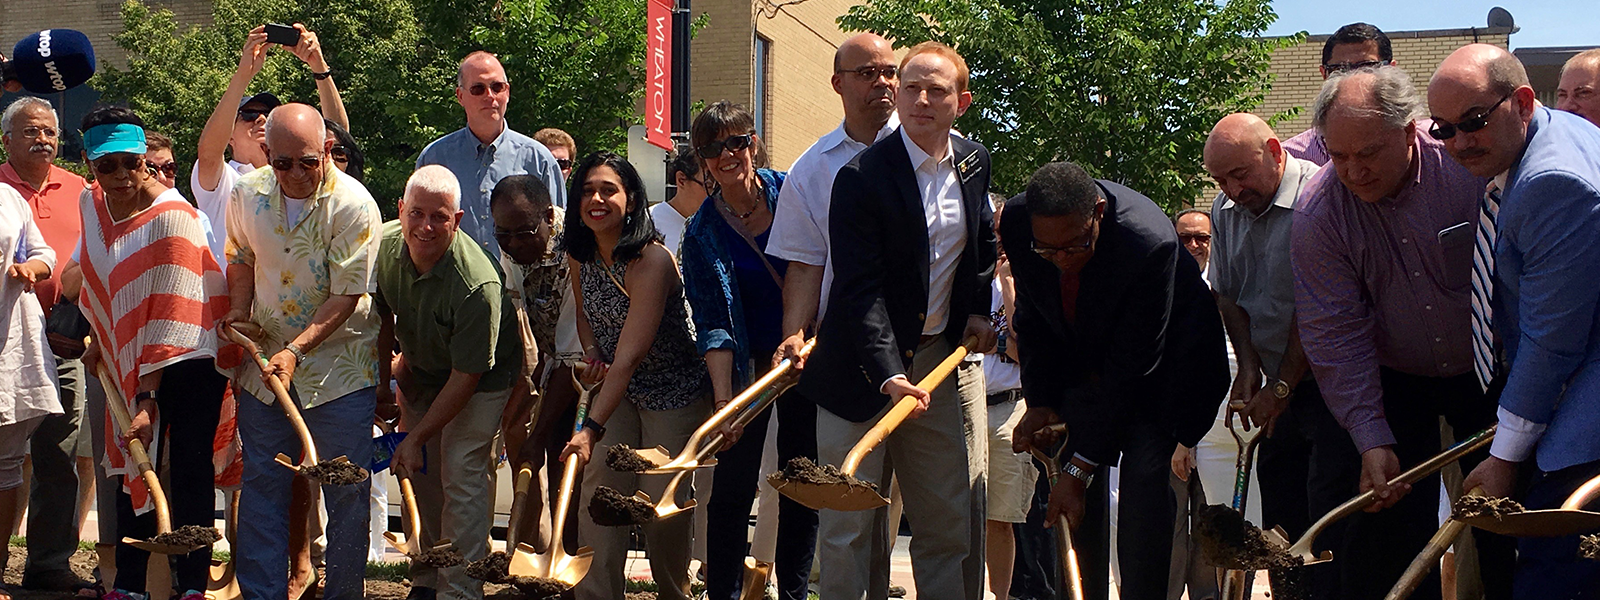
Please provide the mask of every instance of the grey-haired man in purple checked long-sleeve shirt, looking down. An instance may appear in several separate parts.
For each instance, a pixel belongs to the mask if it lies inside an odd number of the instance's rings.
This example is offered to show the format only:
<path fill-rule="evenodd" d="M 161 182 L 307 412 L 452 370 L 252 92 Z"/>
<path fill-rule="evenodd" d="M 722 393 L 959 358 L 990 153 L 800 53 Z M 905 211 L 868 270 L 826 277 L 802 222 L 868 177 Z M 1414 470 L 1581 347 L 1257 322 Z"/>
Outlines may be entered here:
<path fill-rule="evenodd" d="M 1493 104 L 1493 101 L 1490 102 Z M 1362 453 L 1378 504 L 1346 523 L 1346 598 L 1381 598 L 1438 528 L 1440 477 L 1389 485 L 1437 454 L 1443 416 L 1464 438 L 1494 422 L 1472 374 L 1472 227 L 1488 182 L 1427 134 L 1411 75 L 1328 77 L 1312 106 L 1331 162 L 1290 227 L 1294 318 L 1323 402 Z M 1459 118 L 1459 117 L 1458 117 Z M 1486 453 L 1467 454 L 1470 469 Z M 1474 531 L 1486 597 L 1509 595 L 1510 539 Z M 1338 550 L 1336 550 L 1338 552 Z M 1438 598 L 1438 579 L 1418 597 Z"/>

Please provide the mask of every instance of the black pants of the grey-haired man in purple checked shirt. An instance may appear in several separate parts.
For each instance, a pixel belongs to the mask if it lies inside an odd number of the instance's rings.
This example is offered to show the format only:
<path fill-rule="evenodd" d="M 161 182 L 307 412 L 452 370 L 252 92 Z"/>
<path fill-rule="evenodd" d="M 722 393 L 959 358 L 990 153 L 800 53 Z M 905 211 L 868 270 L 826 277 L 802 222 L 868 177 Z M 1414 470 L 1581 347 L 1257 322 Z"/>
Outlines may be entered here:
<path fill-rule="evenodd" d="M 1440 453 L 1438 418 L 1443 416 L 1467 438 L 1494 424 L 1494 402 L 1483 395 L 1472 373 L 1453 378 L 1424 378 L 1381 368 L 1384 414 L 1395 437 L 1400 469 L 1410 469 Z M 1488 456 L 1488 448 L 1467 454 L 1462 472 L 1472 472 Z M 1434 474 L 1411 485 L 1411 493 L 1395 506 L 1379 512 L 1358 512 L 1349 518 L 1344 552 L 1334 549 L 1341 570 L 1341 597 L 1350 600 L 1382 598 L 1400 579 L 1411 558 L 1427 546 L 1438 530 L 1440 477 Z M 1350 490 L 1354 496 L 1357 490 Z M 1472 531 L 1478 547 L 1485 598 L 1510 597 L 1510 573 L 1515 541 L 1483 530 Z M 1438 571 L 1418 586 L 1411 598 L 1440 597 Z"/>

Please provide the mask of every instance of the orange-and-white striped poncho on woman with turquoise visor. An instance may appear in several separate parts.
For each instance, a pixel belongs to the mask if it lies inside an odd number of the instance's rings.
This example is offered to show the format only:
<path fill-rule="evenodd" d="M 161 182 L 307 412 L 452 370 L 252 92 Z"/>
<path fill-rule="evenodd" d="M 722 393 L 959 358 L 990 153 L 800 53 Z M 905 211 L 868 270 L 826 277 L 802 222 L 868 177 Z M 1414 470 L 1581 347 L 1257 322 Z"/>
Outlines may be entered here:
<path fill-rule="evenodd" d="M 230 373 L 240 362 L 240 349 L 224 344 L 216 333 L 216 322 L 229 307 L 227 282 L 206 246 L 198 213 L 182 194 L 166 190 L 144 211 L 115 221 L 96 186 L 80 197 L 80 210 L 78 304 L 94 326 L 101 360 L 130 413 L 141 374 L 192 358 L 216 358 L 218 368 Z M 118 432 L 115 427 L 106 432 L 107 474 L 123 475 L 136 514 L 152 509 L 149 490 Z"/>

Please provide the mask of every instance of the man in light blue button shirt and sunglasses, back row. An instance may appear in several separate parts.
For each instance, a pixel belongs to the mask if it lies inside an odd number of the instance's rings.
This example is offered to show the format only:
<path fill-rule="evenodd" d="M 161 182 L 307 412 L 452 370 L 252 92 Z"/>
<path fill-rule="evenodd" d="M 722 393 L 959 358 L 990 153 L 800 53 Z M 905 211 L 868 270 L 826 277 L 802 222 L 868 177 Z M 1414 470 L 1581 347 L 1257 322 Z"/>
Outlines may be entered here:
<path fill-rule="evenodd" d="M 435 139 L 416 158 L 416 168 L 443 165 L 461 181 L 461 230 L 499 258 L 490 192 L 512 174 L 533 174 L 550 186 L 550 200 L 566 206 L 566 182 L 550 150 L 506 123 L 510 82 L 494 54 L 477 51 L 461 61 L 456 102 L 467 112 L 467 126 Z"/>

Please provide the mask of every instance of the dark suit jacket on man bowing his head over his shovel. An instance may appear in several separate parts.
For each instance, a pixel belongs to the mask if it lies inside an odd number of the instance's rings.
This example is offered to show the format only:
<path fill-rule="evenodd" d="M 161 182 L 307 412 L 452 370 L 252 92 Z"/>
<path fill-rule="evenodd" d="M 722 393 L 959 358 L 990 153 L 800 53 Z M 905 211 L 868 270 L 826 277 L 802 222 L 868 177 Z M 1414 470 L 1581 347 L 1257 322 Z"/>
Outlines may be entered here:
<path fill-rule="evenodd" d="M 1139 192 L 1109 181 L 1099 189 L 1106 216 L 1078 275 L 1075 323 L 1062 314 L 1061 272 L 1032 251 L 1022 195 L 1006 202 L 1000 240 L 1016 280 L 1022 395 L 1067 422 L 1070 451 L 1115 464 L 1133 421 L 1200 442 L 1229 374 L 1216 299 L 1173 222 Z"/>

